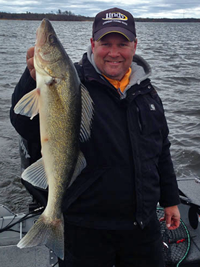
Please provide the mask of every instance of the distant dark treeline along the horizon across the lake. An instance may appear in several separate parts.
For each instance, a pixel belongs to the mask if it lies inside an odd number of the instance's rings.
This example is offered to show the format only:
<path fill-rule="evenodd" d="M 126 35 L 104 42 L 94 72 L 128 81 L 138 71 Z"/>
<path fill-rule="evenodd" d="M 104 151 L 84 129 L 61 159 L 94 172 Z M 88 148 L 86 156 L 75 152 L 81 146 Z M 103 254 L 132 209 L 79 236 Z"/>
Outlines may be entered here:
<path fill-rule="evenodd" d="M 93 17 L 86 17 L 82 15 L 75 15 L 71 11 L 58 10 L 57 13 L 7 13 L 0 12 L 0 20 L 42 20 L 43 18 L 48 18 L 51 21 L 93 21 Z M 200 22 L 199 19 L 195 18 L 180 18 L 180 19 L 169 19 L 169 18 L 135 18 L 138 22 Z"/>

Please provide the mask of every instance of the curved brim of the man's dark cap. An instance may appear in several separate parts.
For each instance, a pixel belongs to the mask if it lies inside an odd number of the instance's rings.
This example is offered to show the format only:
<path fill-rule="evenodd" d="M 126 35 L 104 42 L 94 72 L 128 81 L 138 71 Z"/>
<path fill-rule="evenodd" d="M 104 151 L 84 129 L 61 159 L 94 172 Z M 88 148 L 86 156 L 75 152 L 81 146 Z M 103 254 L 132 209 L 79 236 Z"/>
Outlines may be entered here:
<path fill-rule="evenodd" d="M 95 32 L 94 33 L 94 39 L 95 39 L 95 41 L 99 41 L 103 36 L 105 36 L 105 35 L 107 35 L 109 33 L 113 33 L 113 32 L 122 34 L 130 42 L 134 41 L 135 38 L 136 38 L 136 36 L 132 32 L 130 32 L 130 31 L 124 29 L 124 28 L 121 28 L 121 27 L 106 27 L 104 29 L 101 29 L 101 30 Z"/>

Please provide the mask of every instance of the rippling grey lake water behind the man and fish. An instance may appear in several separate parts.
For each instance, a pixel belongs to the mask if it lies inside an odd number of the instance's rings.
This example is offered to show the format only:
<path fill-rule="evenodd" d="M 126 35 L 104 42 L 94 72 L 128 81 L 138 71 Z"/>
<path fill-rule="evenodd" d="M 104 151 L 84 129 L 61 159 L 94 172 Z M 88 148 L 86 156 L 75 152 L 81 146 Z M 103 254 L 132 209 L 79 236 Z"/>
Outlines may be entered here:
<path fill-rule="evenodd" d="M 0 204 L 27 210 L 30 196 L 20 182 L 18 135 L 9 109 L 15 85 L 35 43 L 39 21 L 0 21 Z M 90 44 L 91 22 L 53 22 L 72 61 Z M 170 128 L 178 179 L 200 177 L 200 23 L 136 23 L 137 54 L 152 67 Z"/>

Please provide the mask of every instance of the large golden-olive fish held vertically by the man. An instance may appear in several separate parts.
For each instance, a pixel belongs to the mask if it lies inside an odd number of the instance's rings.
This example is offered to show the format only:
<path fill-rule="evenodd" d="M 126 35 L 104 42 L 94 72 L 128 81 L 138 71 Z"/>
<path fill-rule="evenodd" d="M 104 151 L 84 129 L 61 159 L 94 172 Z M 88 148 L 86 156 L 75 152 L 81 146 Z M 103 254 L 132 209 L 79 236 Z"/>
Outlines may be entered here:
<path fill-rule="evenodd" d="M 22 179 L 48 187 L 47 205 L 19 241 L 19 248 L 46 245 L 64 259 L 62 203 L 67 188 L 86 167 L 80 142 L 91 135 L 93 101 L 48 19 L 36 31 L 36 88 L 14 107 L 33 119 L 39 114 L 42 157 L 22 173 Z"/>

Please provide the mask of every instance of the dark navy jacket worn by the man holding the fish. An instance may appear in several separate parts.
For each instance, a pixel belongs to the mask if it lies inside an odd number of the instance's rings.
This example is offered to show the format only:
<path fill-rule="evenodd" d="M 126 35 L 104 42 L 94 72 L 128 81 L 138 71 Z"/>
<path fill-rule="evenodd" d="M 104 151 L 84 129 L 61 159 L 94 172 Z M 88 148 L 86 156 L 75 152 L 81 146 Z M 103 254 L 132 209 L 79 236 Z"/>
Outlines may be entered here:
<path fill-rule="evenodd" d="M 134 68 L 142 69 L 144 77 L 130 84 L 124 95 L 97 73 L 86 54 L 81 65 L 76 64 L 95 112 L 91 138 L 80 144 L 87 167 L 68 188 L 63 201 L 70 223 L 132 229 L 137 221 L 143 228 L 155 214 L 158 202 L 163 207 L 179 204 L 163 106 L 147 78 L 148 64 L 138 56 L 134 61 Z M 33 88 L 35 83 L 26 70 L 16 86 L 11 108 L 13 126 L 29 143 L 38 142 L 38 117 L 30 121 L 14 114 L 13 107 Z"/>

